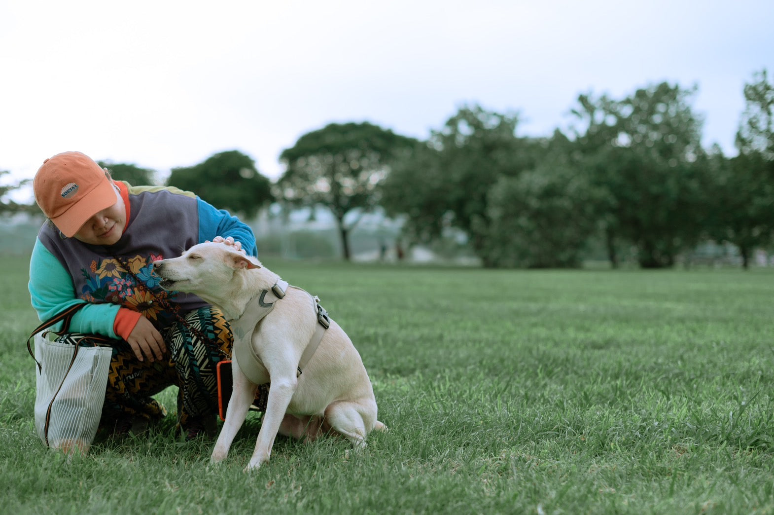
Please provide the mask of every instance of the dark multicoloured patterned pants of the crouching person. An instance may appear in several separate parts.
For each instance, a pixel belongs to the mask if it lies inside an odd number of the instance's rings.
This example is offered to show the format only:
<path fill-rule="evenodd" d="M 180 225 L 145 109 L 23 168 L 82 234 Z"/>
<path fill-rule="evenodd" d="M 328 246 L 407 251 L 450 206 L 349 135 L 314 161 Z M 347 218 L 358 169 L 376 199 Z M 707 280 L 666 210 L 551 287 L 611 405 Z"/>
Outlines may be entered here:
<path fill-rule="evenodd" d="M 189 327 L 176 322 L 162 331 L 166 361 L 141 362 L 127 342 L 113 345 L 101 426 L 111 427 L 125 415 L 160 420 L 166 409 L 151 396 L 167 386 L 178 387 L 177 424 L 183 430 L 191 418 L 217 414 L 216 366 L 231 355 L 231 328 L 214 307 L 190 311 L 184 318 Z"/>

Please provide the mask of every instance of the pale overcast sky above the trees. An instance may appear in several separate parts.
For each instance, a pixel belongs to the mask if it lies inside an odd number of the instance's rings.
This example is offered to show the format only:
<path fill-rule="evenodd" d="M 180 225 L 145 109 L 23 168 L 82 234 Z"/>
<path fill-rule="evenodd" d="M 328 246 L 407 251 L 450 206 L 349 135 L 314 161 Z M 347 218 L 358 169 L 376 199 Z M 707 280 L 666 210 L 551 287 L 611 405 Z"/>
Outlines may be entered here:
<path fill-rule="evenodd" d="M 697 85 L 704 146 L 734 154 L 763 68 L 772 0 L 0 0 L 0 170 L 80 150 L 165 177 L 238 149 L 275 179 L 330 122 L 423 139 L 478 103 L 549 136 L 580 93 L 665 80 Z"/>

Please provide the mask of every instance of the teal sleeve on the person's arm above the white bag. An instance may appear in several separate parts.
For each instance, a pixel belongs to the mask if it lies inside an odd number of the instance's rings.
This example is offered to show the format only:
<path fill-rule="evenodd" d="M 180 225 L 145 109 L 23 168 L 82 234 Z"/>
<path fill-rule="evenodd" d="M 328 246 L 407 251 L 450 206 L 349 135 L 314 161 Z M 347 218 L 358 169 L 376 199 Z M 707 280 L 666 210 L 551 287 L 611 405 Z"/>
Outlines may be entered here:
<path fill-rule="evenodd" d="M 33 256 L 29 260 L 28 287 L 33 308 L 41 321 L 73 304 L 84 302 L 76 297 L 70 274 L 40 240 L 35 241 Z M 87 304 L 74 314 L 69 331 L 121 339 L 113 331 L 119 308 L 118 304 Z M 59 330 L 60 325 L 54 325 L 53 329 Z"/>

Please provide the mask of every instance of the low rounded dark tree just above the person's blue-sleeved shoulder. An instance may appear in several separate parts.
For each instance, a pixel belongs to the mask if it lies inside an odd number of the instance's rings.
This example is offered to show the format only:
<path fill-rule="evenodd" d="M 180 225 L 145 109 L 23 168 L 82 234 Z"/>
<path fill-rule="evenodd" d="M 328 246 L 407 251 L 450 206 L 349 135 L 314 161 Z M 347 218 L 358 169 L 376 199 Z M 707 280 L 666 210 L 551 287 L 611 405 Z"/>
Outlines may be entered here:
<path fill-rule="evenodd" d="M 238 150 L 214 154 L 193 167 L 173 168 L 166 184 L 193 191 L 216 208 L 245 218 L 255 217 L 273 200 L 269 179 Z"/>

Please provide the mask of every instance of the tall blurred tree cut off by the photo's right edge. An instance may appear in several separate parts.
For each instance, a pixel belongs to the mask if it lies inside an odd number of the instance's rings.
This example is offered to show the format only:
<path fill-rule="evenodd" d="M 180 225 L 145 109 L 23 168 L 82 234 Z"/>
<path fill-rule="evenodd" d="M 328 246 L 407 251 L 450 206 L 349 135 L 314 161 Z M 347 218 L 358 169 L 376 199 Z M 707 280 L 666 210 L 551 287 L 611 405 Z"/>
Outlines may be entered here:
<path fill-rule="evenodd" d="M 745 112 L 736 135 L 738 156 L 719 150 L 711 160 L 714 216 L 711 235 L 736 245 L 748 269 L 752 252 L 774 237 L 774 87 L 766 71 L 745 84 Z"/>

